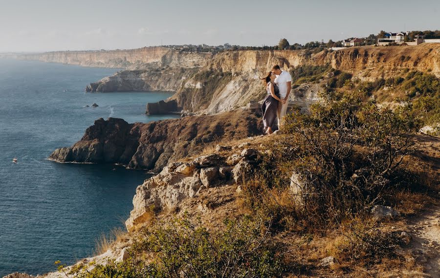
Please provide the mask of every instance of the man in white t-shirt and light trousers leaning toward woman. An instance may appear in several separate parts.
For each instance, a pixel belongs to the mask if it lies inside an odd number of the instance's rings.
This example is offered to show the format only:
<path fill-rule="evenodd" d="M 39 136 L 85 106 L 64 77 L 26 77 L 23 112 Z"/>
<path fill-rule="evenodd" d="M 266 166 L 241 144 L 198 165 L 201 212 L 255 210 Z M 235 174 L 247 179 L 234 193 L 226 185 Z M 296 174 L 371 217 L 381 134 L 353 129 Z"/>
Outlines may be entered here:
<path fill-rule="evenodd" d="M 286 116 L 290 89 L 292 88 L 292 77 L 286 70 L 281 70 L 278 64 L 274 65 L 271 71 L 277 76 L 275 84 L 280 90 L 280 99 L 282 100 L 278 103 L 277 110 L 278 128 L 281 128 L 282 120 Z"/>

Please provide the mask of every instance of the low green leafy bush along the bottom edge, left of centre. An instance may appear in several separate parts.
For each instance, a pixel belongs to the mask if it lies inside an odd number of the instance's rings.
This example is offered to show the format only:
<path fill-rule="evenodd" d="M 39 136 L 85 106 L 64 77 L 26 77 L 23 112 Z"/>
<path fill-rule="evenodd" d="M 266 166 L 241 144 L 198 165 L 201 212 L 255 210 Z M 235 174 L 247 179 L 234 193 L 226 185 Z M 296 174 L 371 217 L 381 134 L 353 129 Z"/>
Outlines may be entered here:
<path fill-rule="evenodd" d="M 124 262 L 110 261 L 92 271 L 77 268 L 80 278 L 274 277 L 284 269 L 270 226 L 260 218 L 226 220 L 220 232 L 175 219 L 140 231 Z"/>

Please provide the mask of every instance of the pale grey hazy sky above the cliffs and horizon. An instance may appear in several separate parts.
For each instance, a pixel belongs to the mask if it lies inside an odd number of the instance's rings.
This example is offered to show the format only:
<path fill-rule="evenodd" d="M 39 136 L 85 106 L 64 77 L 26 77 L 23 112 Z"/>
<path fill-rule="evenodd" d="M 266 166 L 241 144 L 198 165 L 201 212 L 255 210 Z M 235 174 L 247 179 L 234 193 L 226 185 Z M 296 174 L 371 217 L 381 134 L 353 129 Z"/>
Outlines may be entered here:
<path fill-rule="evenodd" d="M 0 52 L 243 46 L 440 29 L 440 0 L 0 0 Z"/>

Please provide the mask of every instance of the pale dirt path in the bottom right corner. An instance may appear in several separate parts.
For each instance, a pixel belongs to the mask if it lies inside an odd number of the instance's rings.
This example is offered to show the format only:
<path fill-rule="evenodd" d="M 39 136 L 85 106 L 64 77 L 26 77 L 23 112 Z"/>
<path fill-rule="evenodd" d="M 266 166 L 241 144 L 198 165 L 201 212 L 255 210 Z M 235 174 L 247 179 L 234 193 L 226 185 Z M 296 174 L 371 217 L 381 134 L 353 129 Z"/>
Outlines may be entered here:
<path fill-rule="evenodd" d="M 416 261 L 424 266 L 424 277 L 440 278 L 440 206 L 410 218 L 408 225 L 413 236 L 410 248 Z"/>

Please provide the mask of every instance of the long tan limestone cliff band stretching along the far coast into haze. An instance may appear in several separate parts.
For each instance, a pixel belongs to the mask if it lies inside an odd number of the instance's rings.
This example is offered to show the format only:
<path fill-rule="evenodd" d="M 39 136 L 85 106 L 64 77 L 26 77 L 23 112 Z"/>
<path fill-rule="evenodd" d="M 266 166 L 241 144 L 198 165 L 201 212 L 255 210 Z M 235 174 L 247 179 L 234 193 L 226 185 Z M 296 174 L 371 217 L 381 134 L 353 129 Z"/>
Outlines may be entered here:
<path fill-rule="evenodd" d="M 400 76 L 402 70 L 431 72 L 440 77 L 440 44 L 418 46 L 361 46 L 312 53 L 310 50 L 224 51 L 218 54 L 185 53 L 161 47 L 133 50 L 50 52 L 23 55 L 23 59 L 127 70 L 91 83 L 90 92 L 128 90 L 176 91 L 171 98 L 190 112 L 218 113 L 245 106 L 264 97 L 262 77 L 273 64 L 285 69 L 301 65 L 331 65 L 354 78 L 374 81 Z M 311 90 L 309 88 L 312 88 Z M 319 86 L 305 84 L 294 91 L 292 103 L 317 99 Z M 322 90 L 322 89 L 321 89 Z"/>

